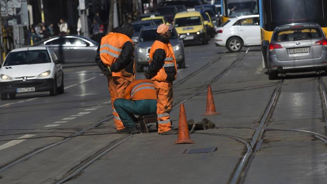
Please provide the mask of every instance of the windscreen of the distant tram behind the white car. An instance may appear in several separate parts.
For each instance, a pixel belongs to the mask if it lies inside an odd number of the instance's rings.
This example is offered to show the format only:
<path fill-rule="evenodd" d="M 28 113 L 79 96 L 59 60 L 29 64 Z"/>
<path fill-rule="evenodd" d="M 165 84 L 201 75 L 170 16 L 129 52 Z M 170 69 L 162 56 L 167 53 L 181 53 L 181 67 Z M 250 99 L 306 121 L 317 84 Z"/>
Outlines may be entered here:
<path fill-rule="evenodd" d="M 258 14 L 257 0 L 227 0 L 229 17 Z"/>

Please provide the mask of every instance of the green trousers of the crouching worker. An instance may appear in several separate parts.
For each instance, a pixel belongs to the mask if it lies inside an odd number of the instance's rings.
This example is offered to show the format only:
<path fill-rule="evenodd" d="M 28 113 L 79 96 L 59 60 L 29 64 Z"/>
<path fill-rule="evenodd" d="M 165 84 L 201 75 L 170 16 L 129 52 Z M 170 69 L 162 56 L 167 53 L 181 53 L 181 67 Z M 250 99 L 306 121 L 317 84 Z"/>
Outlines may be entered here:
<path fill-rule="evenodd" d="M 126 128 L 136 126 L 132 118 L 134 115 L 143 116 L 157 113 L 157 100 L 132 101 L 127 99 L 116 99 L 113 106 Z"/>

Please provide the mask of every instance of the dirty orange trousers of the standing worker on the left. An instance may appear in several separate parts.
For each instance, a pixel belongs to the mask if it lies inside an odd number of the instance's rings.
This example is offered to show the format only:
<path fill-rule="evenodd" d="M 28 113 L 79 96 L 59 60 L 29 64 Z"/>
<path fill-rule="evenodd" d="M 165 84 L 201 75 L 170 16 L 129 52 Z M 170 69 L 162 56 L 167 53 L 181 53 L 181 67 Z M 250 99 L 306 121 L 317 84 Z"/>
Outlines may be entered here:
<path fill-rule="evenodd" d="M 116 99 L 124 98 L 125 89 L 129 85 L 129 83 L 130 81 L 122 77 L 108 76 L 108 88 L 111 97 L 112 114 L 117 130 L 122 130 L 125 127 L 123 125 L 123 122 L 120 120 L 119 115 L 115 110 L 115 107 L 113 106 L 113 102 Z"/>

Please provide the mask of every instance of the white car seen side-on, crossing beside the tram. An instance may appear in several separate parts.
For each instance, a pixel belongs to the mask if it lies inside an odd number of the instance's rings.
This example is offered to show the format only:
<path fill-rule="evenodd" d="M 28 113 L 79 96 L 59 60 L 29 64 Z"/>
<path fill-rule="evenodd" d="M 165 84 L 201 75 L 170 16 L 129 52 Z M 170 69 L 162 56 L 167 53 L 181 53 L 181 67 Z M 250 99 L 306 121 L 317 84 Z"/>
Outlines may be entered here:
<path fill-rule="evenodd" d="M 243 46 L 260 45 L 259 15 L 231 18 L 216 28 L 216 33 L 216 46 L 226 46 L 231 52 L 239 52 Z"/>

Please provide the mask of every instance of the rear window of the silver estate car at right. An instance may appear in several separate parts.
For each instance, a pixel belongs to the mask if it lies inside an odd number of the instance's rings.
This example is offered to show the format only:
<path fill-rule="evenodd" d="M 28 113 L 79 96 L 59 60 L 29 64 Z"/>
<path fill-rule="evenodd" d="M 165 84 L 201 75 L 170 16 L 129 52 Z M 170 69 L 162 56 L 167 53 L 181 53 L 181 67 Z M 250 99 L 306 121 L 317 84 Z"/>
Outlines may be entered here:
<path fill-rule="evenodd" d="M 295 28 L 283 29 L 274 33 L 273 41 L 275 42 L 291 42 L 300 40 L 312 40 L 322 37 L 322 32 L 319 28 Z"/>

